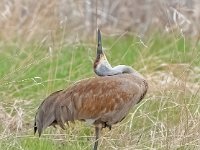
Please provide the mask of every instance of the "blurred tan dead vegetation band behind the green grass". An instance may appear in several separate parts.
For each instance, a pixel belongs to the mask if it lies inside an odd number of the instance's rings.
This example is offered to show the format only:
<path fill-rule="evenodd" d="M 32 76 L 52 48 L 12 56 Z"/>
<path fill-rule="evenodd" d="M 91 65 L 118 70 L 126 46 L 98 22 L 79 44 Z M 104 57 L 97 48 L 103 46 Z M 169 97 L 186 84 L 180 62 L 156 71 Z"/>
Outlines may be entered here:
<path fill-rule="evenodd" d="M 2 0 L 0 28 L 4 30 L 0 36 L 47 40 L 51 34 L 63 35 L 60 31 L 64 30 L 67 38 L 80 38 L 95 35 L 98 24 L 105 33 L 134 31 L 143 36 L 160 30 L 198 38 L 199 6 L 198 0 Z"/>

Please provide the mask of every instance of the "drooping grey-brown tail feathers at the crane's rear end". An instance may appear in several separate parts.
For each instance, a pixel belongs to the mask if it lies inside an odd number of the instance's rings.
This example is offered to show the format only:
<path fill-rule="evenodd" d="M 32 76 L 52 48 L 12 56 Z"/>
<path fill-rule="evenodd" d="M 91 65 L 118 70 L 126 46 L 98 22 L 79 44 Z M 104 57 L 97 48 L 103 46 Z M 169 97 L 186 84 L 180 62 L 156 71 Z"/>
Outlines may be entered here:
<path fill-rule="evenodd" d="M 68 124 L 68 121 L 73 120 L 67 100 L 61 98 L 60 94 L 61 91 L 51 94 L 38 108 L 35 116 L 34 134 L 38 131 L 39 136 L 41 136 L 45 128 L 56 124 L 65 129 L 65 123 Z M 64 104 L 61 103 L 63 100 L 65 100 Z"/>

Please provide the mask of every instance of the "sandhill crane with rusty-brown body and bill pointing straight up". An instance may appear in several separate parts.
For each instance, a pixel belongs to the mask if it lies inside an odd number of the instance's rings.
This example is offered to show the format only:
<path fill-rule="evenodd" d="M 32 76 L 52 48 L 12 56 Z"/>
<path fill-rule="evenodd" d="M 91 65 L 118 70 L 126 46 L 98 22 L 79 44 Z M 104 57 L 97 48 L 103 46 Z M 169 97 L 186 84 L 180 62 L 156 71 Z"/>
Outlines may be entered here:
<path fill-rule="evenodd" d="M 98 76 L 48 96 L 36 113 L 34 133 L 38 131 L 40 136 L 51 125 L 58 124 L 65 129 L 65 123 L 69 121 L 86 121 L 95 126 L 94 150 L 97 150 L 100 130 L 105 127 L 111 129 L 143 99 L 148 88 L 146 80 L 131 67 L 120 65 L 112 68 L 101 45 L 98 30 L 97 58 L 94 62 L 94 71 Z"/>

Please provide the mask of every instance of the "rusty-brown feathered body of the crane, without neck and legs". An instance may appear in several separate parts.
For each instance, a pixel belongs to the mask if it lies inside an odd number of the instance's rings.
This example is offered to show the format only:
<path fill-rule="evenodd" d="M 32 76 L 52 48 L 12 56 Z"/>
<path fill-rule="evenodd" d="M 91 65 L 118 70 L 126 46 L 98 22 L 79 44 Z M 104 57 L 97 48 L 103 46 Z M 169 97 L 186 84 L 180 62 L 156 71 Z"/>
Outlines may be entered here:
<path fill-rule="evenodd" d="M 36 113 L 34 132 L 38 130 L 41 135 L 45 128 L 55 124 L 65 129 L 65 123 L 74 120 L 120 121 L 144 97 L 146 90 L 144 79 L 130 74 L 80 81 L 43 101 Z"/>

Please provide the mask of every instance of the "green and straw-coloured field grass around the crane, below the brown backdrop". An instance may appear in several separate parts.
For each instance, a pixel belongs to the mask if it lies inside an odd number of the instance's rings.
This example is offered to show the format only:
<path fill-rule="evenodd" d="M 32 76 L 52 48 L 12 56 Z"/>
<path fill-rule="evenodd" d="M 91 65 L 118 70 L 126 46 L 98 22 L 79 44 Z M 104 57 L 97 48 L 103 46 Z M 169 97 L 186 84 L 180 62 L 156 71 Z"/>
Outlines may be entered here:
<path fill-rule="evenodd" d="M 94 129 L 70 124 L 33 135 L 37 107 L 53 91 L 94 76 L 96 43 L 0 43 L 0 149 L 91 149 Z M 100 149 L 200 149 L 200 44 L 182 34 L 104 38 L 111 64 L 127 64 L 149 82 L 145 99 L 111 131 Z"/>

